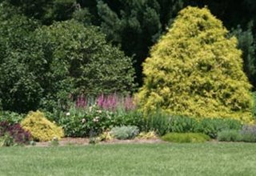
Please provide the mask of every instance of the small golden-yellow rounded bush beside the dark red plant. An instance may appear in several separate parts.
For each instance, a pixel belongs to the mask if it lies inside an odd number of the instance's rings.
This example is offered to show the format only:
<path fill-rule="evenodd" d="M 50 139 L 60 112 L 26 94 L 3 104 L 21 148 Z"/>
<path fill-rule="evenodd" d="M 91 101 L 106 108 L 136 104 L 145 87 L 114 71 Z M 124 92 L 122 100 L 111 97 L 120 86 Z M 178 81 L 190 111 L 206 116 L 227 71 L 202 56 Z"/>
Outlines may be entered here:
<path fill-rule="evenodd" d="M 61 127 L 47 120 L 40 111 L 30 111 L 26 118 L 21 122 L 22 128 L 30 131 L 35 141 L 50 141 L 53 138 L 62 138 L 64 136 Z"/>

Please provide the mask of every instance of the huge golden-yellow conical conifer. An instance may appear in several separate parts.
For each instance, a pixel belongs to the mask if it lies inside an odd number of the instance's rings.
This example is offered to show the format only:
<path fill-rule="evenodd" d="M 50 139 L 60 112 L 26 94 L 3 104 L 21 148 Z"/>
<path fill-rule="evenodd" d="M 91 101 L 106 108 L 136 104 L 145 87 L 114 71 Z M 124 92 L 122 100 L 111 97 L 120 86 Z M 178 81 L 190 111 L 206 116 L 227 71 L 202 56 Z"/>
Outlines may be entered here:
<path fill-rule="evenodd" d="M 143 64 L 141 109 L 250 122 L 251 85 L 237 45 L 210 10 L 189 6 L 180 11 Z"/>

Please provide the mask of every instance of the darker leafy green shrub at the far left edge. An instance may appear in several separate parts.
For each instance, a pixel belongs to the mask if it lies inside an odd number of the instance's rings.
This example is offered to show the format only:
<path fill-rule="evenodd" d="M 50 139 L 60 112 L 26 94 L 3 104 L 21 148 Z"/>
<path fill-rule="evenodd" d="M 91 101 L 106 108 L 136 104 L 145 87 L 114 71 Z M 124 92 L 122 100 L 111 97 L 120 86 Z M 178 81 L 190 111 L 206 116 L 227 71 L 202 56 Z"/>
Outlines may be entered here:
<path fill-rule="evenodd" d="M 37 22 L 18 14 L 13 6 L 0 3 L 0 102 L 3 110 L 24 112 L 38 105 L 42 90 L 25 63 L 34 57 L 34 53 L 26 49 L 30 49 L 30 33 L 37 26 Z"/>

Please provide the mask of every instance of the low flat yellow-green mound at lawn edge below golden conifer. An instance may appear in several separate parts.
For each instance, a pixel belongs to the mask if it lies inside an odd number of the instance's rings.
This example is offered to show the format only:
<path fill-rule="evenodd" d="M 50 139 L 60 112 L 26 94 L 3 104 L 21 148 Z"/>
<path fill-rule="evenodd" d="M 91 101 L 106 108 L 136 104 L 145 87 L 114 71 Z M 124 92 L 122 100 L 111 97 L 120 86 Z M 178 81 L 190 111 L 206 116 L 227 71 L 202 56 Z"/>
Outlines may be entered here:
<path fill-rule="evenodd" d="M 210 140 L 210 137 L 206 134 L 198 133 L 169 133 L 162 136 L 162 140 L 166 142 L 178 142 L 178 143 L 188 143 L 188 142 L 206 142 Z"/>

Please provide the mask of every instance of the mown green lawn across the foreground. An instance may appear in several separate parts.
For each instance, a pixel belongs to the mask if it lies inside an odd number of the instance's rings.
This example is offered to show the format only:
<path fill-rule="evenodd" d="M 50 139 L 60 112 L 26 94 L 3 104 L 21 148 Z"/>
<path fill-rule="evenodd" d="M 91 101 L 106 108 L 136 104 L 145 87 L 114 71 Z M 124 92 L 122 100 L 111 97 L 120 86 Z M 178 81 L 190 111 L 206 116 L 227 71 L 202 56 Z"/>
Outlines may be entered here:
<path fill-rule="evenodd" d="M 0 175 L 256 175 L 256 144 L 2 147 Z"/>

